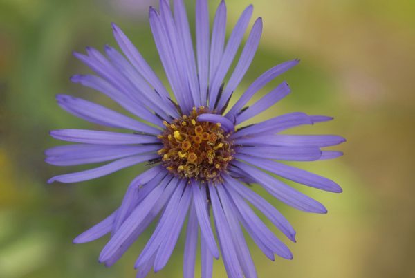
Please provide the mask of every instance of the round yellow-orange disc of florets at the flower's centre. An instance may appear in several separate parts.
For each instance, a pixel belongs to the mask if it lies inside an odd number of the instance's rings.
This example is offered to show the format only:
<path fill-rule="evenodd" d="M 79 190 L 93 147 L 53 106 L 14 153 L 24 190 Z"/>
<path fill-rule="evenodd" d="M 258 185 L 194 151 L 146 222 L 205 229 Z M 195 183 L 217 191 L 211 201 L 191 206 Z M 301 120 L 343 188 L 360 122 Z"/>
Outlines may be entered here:
<path fill-rule="evenodd" d="M 203 113 L 209 113 L 208 109 L 194 107 L 190 115 L 170 124 L 164 122 L 165 131 L 158 136 L 164 146 L 158 154 L 175 176 L 201 182 L 221 181 L 221 173 L 226 171 L 234 154 L 230 133 L 223 131 L 220 123 L 198 122 L 197 117 Z"/>

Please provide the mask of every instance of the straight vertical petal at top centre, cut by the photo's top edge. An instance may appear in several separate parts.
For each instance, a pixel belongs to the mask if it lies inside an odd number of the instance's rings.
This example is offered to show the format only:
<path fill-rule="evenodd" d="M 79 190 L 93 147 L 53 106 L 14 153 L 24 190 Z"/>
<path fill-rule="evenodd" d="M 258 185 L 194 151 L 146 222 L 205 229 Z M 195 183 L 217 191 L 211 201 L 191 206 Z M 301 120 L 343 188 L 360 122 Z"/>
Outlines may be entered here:
<path fill-rule="evenodd" d="M 209 78 L 209 9 L 207 0 L 196 0 L 196 53 L 199 88 L 202 100 L 208 93 Z"/>

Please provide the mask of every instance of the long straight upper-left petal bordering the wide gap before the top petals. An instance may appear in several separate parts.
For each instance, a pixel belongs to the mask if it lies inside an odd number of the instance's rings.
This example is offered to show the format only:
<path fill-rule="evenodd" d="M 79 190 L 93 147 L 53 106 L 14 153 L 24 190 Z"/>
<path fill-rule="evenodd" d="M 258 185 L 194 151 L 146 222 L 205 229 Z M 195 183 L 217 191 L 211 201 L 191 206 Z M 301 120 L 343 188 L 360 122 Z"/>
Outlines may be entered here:
<path fill-rule="evenodd" d="M 131 43 L 128 37 L 122 33 L 122 30 L 116 26 L 116 24 L 111 25 L 113 27 L 113 34 L 118 42 L 118 45 L 122 49 L 122 52 L 127 56 L 131 64 L 133 64 L 138 73 L 140 73 L 166 101 L 169 101 L 170 96 L 165 89 L 165 86 L 163 86 L 163 83 L 151 69 L 149 64 L 147 64 L 142 55 L 138 52 L 137 48 Z"/>

